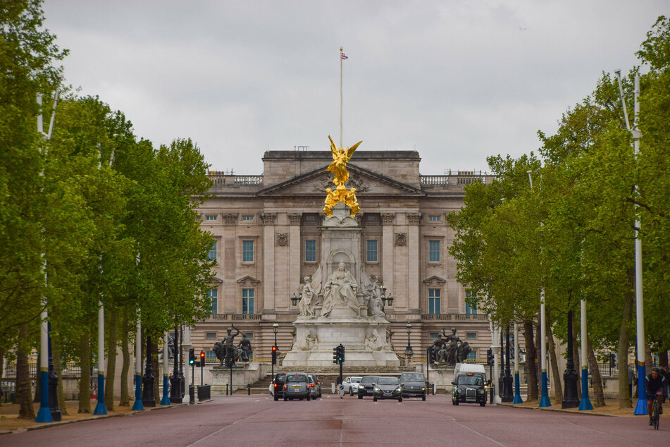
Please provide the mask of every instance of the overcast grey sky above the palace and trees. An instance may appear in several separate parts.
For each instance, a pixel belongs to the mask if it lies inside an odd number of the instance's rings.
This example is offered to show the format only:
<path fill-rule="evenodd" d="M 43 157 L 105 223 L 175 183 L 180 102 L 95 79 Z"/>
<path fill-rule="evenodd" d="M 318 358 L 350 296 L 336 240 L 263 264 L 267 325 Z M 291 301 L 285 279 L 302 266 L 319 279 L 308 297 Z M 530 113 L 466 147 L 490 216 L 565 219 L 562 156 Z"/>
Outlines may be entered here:
<path fill-rule="evenodd" d="M 66 83 L 211 169 L 266 150 L 416 149 L 422 174 L 537 151 L 602 71 L 630 70 L 667 0 L 46 0 Z M 355 158 L 355 155 L 354 155 Z M 352 159 L 352 163 L 355 161 Z"/>

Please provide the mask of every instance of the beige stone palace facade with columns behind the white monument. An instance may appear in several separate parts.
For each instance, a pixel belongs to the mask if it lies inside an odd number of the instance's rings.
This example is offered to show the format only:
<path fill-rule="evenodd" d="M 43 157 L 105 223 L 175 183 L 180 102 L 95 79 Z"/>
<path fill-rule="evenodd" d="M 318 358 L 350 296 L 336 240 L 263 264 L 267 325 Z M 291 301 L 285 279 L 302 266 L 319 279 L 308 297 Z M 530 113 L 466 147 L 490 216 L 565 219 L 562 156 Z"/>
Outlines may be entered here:
<path fill-rule="evenodd" d="M 209 291 L 211 317 L 192 331 L 192 344 L 213 358 L 212 345 L 231 324 L 251 338 L 254 357 L 294 343 L 298 307 L 291 298 L 321 259 L 321 222 L 330 151 L 268 151 L 262 175 L 210 171 L 211 195 L 199 207 L 201 227 L 215 243 L 215 279 Z M 422 176 L 421 157 L 409 150 L 357 151 L 347 164 L 347 188 L 356 188 L 361 233 L 359 259 L 394 298 L 385 307 L 392 348 L 408 343 L 425 357 L 431 339 L 457 329 L 470 357 L 486 357 L 491 333 L 485 315 L 466 302 L 469 291 L 456 280 L 447 248 L 454 231 L 445 222 L 463 207 L 464 186 L 490 177 L 472 172 Z"/>

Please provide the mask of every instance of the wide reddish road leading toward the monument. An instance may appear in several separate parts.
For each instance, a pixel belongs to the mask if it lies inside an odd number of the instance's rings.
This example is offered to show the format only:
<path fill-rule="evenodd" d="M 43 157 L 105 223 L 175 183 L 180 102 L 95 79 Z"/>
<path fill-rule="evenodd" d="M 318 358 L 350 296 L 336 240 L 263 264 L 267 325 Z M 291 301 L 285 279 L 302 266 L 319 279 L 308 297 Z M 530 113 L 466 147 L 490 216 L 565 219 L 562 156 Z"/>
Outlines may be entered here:
<path fill-rule="evenodd" d="M 199 405 L 66 424 L 0 436 L 0 446 L 667 446 L 646 417 L 604 417 L 503 406 L 373 402 L 324 395 L 275 402 L 270 396 L 221 396 Z"/>

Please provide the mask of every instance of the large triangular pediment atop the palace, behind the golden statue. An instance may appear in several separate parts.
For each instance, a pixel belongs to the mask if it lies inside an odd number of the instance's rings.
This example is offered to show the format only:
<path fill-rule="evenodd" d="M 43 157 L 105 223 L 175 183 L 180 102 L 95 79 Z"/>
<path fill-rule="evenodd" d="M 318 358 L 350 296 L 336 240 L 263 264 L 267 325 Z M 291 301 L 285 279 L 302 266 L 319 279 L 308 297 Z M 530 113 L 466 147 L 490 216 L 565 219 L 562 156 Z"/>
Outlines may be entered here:
<path fill-rule="evenodd" d="M 328 165 L 324 165 L 323 169 L 317 169 L 278 185 L 273 185 L 261 190 L 259 195 L 325 195 L 325 188 L 335 188 L 333 174 L 325 171 L 327 167 Z M 420 189 L 385 176 L 380 176 L 378 173 L 359 168 L 353 164 L 348 164 L 347 169 L 349 169 L 349 181 L 345 185 L 347 189 L 356 188 L 357 197 L 373 195 L 423 195 L 423 191 Z"/>

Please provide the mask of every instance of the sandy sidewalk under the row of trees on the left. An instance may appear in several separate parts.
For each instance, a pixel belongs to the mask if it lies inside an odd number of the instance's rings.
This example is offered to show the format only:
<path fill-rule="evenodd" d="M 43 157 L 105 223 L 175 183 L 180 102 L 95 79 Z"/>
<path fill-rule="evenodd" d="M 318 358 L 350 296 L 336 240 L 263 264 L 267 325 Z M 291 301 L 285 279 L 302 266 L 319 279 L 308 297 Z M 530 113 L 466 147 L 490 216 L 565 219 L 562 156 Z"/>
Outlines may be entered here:
<path fill-rule="evenodd" d="M 197 402 L 201 403 L 201 402 Z M 97 402 L 91 402 L 91 411 L 95 410 L 95 405 Z M 104 417 L 118 417 L 118 416 L 127 416 L 138 413 L 138 410 L 132 410 L 132 401 L 130 402 L 130 407 L 120 407 L 118 405 L 114 406 L 114 411 L 107 411 L 107 415 L 93 415 L 90 413 L 77 413 L 79 409 L 78 400 L 68 400 L 66 402 L 66 408 L 68 410 L 68 415 L 63 415 L 63 420 L 61 422 L 49 422 L 49 423 L 37 423 L 35 420 L 19 419 L 18 418 L 18 404 L 3 403 L 0 406 L 0 434 L 9 434 L 9 433 L 20 433 L 22 431 L 28 430 L 39 430 L 46 427 L 55 427 L 56 425 L 71 424 L 72 422 L 80 422 L 87 420 L 96 420 Z M 188 405 L 187 403 L 177 403 L 172 405 L 159 405 L 156 403 L 156 407 L 147 408 L 145 411 L 155 411 L 155 410 L 164 410 L 166 408 L 174 408 L 179 405 Z M 35 409 L 35 414 L 39 411 L 39 403 L 33 403 L 32 408 Z"/>

